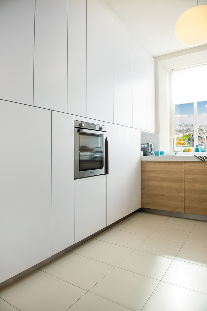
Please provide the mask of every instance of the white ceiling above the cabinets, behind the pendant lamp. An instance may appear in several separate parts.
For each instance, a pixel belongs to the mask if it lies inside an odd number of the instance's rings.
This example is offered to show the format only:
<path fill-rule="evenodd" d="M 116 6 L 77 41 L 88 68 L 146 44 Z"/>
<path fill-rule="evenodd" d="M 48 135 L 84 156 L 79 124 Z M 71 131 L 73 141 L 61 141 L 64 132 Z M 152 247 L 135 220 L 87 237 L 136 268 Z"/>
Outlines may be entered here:
<path fill-rule="evenodd" d="M 196 0 L 98 0 L 130 30 L 140 44 L 154 57 L 181 51 L 182 45 L 175 36 L 175 24 Z M 207 0 L 198 0 L 198 5 Z"/>

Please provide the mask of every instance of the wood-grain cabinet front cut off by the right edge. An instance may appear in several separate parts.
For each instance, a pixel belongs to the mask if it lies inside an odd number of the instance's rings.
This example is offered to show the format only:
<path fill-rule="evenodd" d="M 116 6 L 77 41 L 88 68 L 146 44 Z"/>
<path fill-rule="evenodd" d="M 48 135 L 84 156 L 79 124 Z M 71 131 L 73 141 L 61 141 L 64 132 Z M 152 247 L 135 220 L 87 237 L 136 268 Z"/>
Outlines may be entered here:
<path fill-rule="evenodd" d="M 207 215 L 207 162 L 185 162 L 185 213 Z"/>

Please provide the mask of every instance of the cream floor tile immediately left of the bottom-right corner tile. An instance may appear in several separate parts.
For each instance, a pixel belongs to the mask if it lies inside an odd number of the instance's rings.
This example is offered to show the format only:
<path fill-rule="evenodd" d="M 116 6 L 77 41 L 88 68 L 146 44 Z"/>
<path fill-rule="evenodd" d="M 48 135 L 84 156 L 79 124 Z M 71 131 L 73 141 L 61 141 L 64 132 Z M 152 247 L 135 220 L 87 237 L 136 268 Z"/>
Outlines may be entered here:
<path fill-rule="evenodd" d="M 126 308 L 140 311 L 158 281 L 127 270 L 114 268 L 90 292 Z"/>

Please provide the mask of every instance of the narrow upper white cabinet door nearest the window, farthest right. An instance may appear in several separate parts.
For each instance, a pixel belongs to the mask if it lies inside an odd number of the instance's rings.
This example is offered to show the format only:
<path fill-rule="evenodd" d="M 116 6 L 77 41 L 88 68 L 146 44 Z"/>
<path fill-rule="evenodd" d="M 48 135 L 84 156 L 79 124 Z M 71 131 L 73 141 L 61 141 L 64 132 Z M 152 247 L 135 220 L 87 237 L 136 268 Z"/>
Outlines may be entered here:
<path fill-rule="evenodd" d="M 155 133 L 155 62 L 149 54 L 146 55 L 146 78 L 146 129 Z"/>

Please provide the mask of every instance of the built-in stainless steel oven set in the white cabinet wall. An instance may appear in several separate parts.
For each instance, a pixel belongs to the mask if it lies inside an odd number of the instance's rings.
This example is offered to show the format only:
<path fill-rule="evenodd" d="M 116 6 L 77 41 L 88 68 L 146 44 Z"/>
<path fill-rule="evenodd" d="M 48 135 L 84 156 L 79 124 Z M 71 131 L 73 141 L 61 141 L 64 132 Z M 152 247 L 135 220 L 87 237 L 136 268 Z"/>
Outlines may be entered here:
<path fill-rule="evenodd" d="M 108 173 L 106 126 L 74 120 L 74 178 Z"/>

